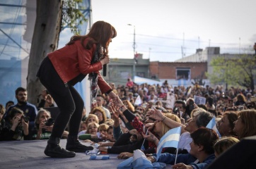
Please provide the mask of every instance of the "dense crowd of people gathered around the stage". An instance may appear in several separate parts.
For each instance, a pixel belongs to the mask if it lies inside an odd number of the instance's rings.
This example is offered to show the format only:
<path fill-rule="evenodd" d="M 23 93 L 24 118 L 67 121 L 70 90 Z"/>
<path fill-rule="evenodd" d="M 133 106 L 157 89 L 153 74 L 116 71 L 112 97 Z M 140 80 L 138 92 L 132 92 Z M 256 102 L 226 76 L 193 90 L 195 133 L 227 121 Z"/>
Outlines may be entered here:
<path fill-rule="evenodd" d="M 167 82 L 139 85 L 131 79 L 126 85 L 116 87 L 110 83 L 110 86 L 118 95 L 117 101 L 98 90 L 91 108 L 83 108 L 78 133 L 83 142 L 97 143 L 98 151 L 103 154 L 129 158 L 134 150 L 141 149 L 152 163 L 157 160 L 173 167 L 206 168 L 241 139 L 256 135 L 255 92 L 249 88 L 223 90 L 221 86 L 194 85 L 186 89 L 172 87 Z M 173 108 L 165 104 L 163 96 L 167 94 L 174 95 Z M 6 107 L 0 104 L 0 140 L 49 139 L 54 120 L 46 108 L 55 104 L 47 90 L 42 90 L 36 106 L 28 103 L 25 88 L 18 87 L 15 95 L 17 104 L 13 101 L 8 101 Z M 194 95 L 205 97 L 206 103 L 195 104 Z M 88 109 L 91 111 L 86 113 Z M 214 116 L 221 138 L 206 128 Z M 182 128 L 178 149 L 166 147 L 156 159 L 159 140 L 178 126 Z M 62 139 L 68 134 L 67 126 Z"/>

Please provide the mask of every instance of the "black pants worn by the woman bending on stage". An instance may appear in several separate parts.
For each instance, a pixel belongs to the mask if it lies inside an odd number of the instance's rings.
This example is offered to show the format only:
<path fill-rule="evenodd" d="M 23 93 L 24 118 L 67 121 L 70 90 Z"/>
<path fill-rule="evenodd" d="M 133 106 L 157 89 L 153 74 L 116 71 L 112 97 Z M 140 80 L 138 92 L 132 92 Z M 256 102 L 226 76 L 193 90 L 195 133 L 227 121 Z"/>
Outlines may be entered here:
<path fill-rule="evenodd" d="M 48 57 L 42 61 L 37 72 L 40 82 L 45 86 L 59 107 L 59 115 L 55 119 L 52 129 L 52 137 L 62 137 L 69 123 L 69 134 L 77 135 L 83 113 L 83 99 L 76 89 L 69 85 L 65 87 L 64 82 L 54 69 Z"/>

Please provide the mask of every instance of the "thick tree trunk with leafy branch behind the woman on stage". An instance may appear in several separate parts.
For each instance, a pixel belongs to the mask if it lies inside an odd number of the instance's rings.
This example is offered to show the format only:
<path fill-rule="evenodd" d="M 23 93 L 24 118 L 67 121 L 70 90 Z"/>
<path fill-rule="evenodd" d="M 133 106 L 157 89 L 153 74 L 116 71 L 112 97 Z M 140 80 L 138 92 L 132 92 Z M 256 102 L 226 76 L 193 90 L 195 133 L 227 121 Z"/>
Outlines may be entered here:
<path fill-rule="evenodd" d="M 86 21 L 81 11 L 76 9 L 82 0 L 37 0 L 36 20 L 28 62 L 28 101 L 37 104 L 37 96 L 42 84 L 36 77 L 40 63 L 48 53 L 57 49 L 62 27 L 70 27 L 78 34 L 78 25 Z"/>

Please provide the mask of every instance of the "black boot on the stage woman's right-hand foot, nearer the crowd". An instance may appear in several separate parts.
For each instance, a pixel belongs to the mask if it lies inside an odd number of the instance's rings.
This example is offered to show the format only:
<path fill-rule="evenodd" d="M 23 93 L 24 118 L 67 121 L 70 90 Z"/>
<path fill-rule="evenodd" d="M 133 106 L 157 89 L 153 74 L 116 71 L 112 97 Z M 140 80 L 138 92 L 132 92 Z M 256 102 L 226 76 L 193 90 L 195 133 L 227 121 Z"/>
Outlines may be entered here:
<path fill-rule="evenodd" d="M 85 146 L 78 141 L 77 135 L 69 135 L 66 141 L 66 149 L 76 153 L 85 153 L 87 150 L 93 150 L 93 146 Z"/>

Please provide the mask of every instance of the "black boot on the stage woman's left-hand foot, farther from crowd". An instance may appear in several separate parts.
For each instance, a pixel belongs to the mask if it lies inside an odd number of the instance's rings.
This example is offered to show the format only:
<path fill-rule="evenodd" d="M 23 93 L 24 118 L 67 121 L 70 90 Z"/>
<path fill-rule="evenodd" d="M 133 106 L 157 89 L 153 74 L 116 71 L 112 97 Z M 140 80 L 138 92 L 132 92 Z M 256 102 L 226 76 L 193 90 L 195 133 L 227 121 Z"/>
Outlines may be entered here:
<path fill-rule="evenodd" d="M 50 137 L 45 148 L 45 155 L 55 158 L 69 158 L 76 156 L 75 152 L 67 151 L 59 146 L 59 138 Z"/>

